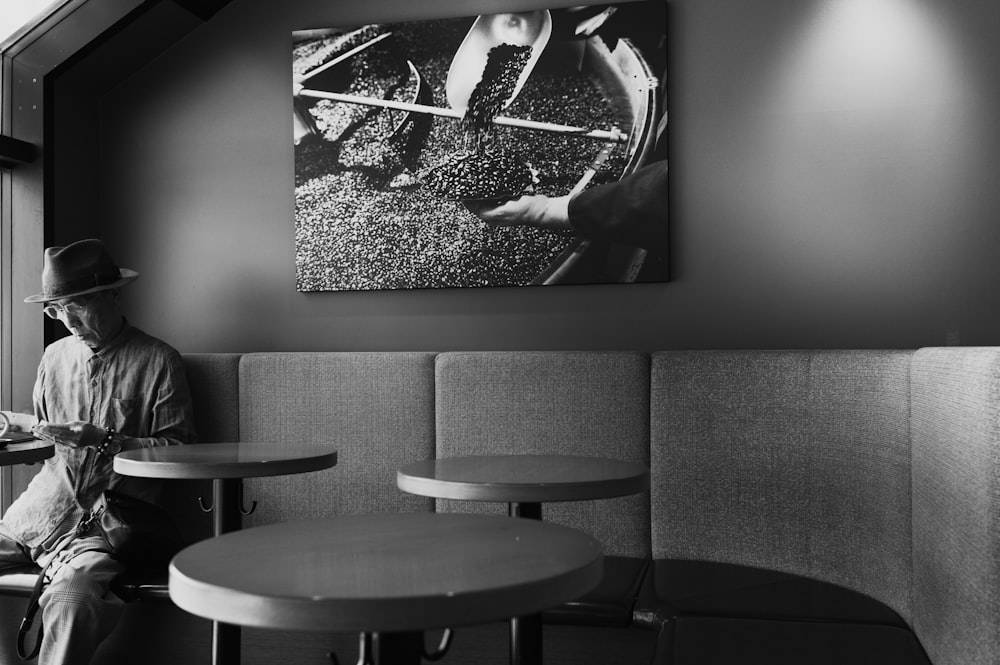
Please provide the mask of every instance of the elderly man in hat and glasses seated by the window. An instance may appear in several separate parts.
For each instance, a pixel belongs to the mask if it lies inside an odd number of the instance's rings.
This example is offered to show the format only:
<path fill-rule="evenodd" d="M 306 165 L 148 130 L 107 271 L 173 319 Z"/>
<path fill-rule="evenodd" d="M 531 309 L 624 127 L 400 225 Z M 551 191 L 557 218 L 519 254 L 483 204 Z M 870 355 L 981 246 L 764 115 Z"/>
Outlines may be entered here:
<path fill-rule="evenodd" d="M 55 444 L 0 521 L 0 569 L 49 566 L 40 665 L 90 662 L 120 615 L 109 585 L 122 564 L 103 537 L 76 526 L 105 489 L 155 502 L 159 486 L 114 473 L 114 455 L 195 440 L 180 355 L 122 316 L 119 288 L 137 277 L 100 241 L 82 240 L 45 251 L 42 293 L 25 299 L 71 333 L 45 350 L 34 414 L 5 414 L 13 429 Z"/>

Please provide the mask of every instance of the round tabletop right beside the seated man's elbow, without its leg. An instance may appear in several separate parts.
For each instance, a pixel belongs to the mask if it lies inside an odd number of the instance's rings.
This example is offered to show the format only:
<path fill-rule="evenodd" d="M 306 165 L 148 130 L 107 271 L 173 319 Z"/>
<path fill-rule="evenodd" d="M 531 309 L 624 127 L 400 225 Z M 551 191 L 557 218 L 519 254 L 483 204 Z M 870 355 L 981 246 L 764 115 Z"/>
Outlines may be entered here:
<path fill-rule="evenodd" d="M 331 446 L 297 443 L 198 443 L 126 450 L 114 469 L 142 478 L 253 478 L 328 469 L 337 464 Z"/>

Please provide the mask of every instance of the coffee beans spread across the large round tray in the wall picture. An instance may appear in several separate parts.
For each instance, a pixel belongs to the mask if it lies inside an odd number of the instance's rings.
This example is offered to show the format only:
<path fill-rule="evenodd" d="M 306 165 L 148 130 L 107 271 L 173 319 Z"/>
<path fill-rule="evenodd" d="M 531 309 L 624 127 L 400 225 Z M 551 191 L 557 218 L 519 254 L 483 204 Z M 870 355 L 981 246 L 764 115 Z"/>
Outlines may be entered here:
<path fill-rule="evenodd" d="M 402 69 L 409 58 L 430 86 L 428 103 L 447 107 L 448 67 L 471 23 L 388 26 L 392 37 L 349 61 L 353 75 L 344 91 L 396 99 L 412 94 L 389 57 L 386 42 L 393 42 Z M 295 59 L 298 53 L 296 46 Z M 386 140 L 378 109 L 324 100 L 311 113 L 324 140 L 295 147 L 299 291 L 527 285 L 574 243 L 570 233 L 488 226 L 461 203 L 420 184 L 420 173 L 463 144 L 460 121 L 415 115 L 404 137 L 408 147 L 401 148 Z M 630 126 L 593 80 L 569 66 L 536 67 L 504 114 L 580 127 Z M 539 171 L 534 188 L 543 194 L 565 194 L 600 150 L 593 141 L 557 134 L 511 127 L 496 133 L 504 154 L 516 154 Z M 613 153 L 595 184 L 618 178 L 620 155 Z"/>

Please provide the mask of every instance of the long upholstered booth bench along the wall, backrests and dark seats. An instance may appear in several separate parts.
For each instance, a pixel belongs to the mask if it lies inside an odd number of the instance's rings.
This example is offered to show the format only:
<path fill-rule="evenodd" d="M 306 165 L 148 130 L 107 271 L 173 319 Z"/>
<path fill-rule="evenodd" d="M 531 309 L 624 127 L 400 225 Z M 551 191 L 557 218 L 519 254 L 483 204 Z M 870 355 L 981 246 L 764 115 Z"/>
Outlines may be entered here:
<path fill-rule="evenodd" d="M 400 491 L 435 456 L 565 453 L 647 464 L 650 490 L 546 504 L 606 555 L 546 612 L 547 663 L 1000 662 L 1000 348 L 347 352 L 185 356 L 202 441 L 333 444 L 336 467 L 247 480 L 245 525 L 503 505 Z M 193 539 L 196 497 L 166 496 Z M 266 571 L 261 571 L 266 574 Z M 0 662 L 32 575 L 0 578 Z M 98 663 L 209 659 L 209 622 L 137 598 Z M 428 641 L 434 636 L 428 636 Z M 341 663 L 357 636 L 243 631 L 245 663 Z M 442 662 L 506 663 L 506 624 Z"/>

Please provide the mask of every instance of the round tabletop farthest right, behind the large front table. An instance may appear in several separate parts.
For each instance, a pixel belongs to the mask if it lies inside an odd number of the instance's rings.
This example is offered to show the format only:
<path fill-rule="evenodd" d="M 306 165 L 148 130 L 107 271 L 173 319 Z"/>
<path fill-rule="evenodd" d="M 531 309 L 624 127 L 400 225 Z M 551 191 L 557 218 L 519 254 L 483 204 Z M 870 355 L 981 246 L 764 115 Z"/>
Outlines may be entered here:
<path fill-rule="evenodd" d="M 474 455 L 400 468 L 403 491 L 439 499 L 510 503 L 582 501 L 649 488 L 649 468 L 635 462 L 574 455 Z"/>

